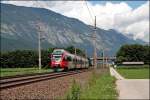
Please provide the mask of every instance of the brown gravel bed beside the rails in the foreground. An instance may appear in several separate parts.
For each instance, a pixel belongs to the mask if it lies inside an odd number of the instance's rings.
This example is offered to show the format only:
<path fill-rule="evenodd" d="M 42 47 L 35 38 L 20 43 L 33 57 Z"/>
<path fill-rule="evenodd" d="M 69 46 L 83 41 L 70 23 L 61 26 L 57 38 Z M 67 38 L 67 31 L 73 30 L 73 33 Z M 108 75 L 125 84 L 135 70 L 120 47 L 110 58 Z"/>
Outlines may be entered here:
<path fill-rule="evenodd" d="M 40 81 L 0 91 L 0 99 L 59 99 L 70 89 L 75 79 L 81 86 L 88 82 L 92 71 Z"/>

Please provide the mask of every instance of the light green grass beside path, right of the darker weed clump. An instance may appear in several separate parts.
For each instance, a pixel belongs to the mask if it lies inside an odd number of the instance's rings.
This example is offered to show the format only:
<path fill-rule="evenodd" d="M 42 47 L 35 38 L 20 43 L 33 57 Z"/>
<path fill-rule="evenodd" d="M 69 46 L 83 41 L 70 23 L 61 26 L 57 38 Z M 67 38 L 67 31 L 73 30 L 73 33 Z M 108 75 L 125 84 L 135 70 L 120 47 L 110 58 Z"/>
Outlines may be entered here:
<path fill-rule="evenodd" d="M 80 99 L 117 99 L 115 80 L 108 73 L 102 76 L 93 75 L 89 86 L 82 91 Z"/>

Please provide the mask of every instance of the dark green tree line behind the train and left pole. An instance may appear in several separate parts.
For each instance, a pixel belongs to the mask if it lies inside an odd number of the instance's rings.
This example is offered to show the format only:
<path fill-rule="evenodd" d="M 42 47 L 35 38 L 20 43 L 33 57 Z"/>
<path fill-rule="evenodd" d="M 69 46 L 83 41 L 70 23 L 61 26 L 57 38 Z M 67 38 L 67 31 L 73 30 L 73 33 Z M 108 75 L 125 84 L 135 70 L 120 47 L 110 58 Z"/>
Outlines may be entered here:
<path fill-rule="evenodd" d="M 63 48 L 70 53 L 74 53 L 74 46 Z M 42 67 L 49 67 L 50 57 L 54 48 L 41 50 Z M 77 54 L 84 56 L 85 53 L 77 48 Z M 0 52 L 1 68 L 27 68 L 38 66 L 38 51 L 35 50 L 15 50 L 10 52 Z"/>

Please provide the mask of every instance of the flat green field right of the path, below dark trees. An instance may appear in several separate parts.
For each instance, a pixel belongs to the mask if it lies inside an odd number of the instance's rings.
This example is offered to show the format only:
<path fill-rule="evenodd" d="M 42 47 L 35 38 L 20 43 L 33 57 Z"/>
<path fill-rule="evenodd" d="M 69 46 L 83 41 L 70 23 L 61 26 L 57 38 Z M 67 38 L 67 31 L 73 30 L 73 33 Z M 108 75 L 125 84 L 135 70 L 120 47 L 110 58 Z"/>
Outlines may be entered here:
<path fill-rule="evenodd" d="M 132 67 L 132 66 L 131 66 Z M 149 79 L 150 69 L 147 68 L 117 68 L 117 71 L 127 79 Z"/>

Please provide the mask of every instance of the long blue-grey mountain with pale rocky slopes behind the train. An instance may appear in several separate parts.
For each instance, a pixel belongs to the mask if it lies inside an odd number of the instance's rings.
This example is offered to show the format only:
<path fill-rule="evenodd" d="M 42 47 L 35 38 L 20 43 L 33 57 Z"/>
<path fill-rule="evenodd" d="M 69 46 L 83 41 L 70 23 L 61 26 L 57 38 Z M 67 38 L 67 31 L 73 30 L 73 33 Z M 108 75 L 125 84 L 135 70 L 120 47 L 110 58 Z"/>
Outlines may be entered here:
<path fill-rule="evenodd" d="M 39 29 L 40 28 L 40 29 Z M 93 52 L 92 26 L 44 8 L 15 6 L 1 3 L 1 50 L 37 49 L 38 32 L 42 48 L 74 45 Z M 96 30 L 98 55 L 104 48 L 107 55 L 115 55 L 123 44 L 141 43 L 113 29 Z"/>

